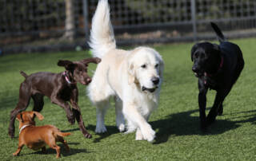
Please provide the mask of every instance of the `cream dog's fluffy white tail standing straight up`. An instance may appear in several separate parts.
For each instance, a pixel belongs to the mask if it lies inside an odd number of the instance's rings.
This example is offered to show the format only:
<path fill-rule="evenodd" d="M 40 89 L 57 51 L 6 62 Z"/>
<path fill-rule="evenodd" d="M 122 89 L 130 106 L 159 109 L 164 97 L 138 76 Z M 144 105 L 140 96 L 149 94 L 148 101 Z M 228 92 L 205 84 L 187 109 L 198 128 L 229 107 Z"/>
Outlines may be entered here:
<path fill-rule="evenodd" d="M 90 48 L 94 57 L 102 58 L 115 49 L 114 30 L 110 22 L 110 6 L 107 0 L 99 0 L 90 30 Z"/>

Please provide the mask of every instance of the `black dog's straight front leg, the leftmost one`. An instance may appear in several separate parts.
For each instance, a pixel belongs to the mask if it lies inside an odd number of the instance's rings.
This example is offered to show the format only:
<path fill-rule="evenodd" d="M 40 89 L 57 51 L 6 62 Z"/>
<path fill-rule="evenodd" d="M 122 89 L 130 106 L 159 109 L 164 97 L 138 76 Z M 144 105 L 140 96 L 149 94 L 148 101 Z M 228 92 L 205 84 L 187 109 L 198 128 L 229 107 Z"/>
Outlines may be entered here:
<path fill-rule="evenodd" d="M 204 131 L 206 130 L 206 93 L 208 91 L 208 88 L 204 84 L 204 81 L 202 79 L 198 80 L 198 104 L 199 104 L 199 114 L 200 114 L 200 124 L 201 129 Z"/>

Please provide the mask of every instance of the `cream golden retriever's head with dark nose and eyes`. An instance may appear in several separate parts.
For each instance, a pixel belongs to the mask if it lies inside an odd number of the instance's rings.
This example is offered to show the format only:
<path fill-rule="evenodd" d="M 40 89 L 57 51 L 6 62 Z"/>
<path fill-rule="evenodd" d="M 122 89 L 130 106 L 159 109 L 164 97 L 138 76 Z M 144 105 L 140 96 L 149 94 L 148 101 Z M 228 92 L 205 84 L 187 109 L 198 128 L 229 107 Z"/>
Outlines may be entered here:
<path fill-rule="evenodd" d="M 162 84 L 163 61 L 154 49 L 135 49 L 129 69 L 130 83 L 140 84 L 143 92 L 154 92 Z"/>

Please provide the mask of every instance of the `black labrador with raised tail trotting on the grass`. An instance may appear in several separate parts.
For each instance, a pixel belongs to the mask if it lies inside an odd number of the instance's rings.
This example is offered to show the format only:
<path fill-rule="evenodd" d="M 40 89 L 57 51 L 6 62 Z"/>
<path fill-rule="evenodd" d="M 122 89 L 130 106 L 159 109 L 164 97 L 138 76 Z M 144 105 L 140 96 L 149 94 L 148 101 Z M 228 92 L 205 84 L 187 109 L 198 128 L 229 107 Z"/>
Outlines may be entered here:
<path fill-rule="evenodd" d="M 222 34 L 216 24 L 211 22 L 220 45 L 210 42 L 195 44 L 191 49 L 192 70 L 198 77 L 198 104 L 202 130 L 214 122 L 217 115 L 222 115 L 222 103 L 232 86 L 238 80 L 244 67 L 242 51 Z M 206 93 L 208 88 L 217 91 L 214 105 L 206 117 Z"/>

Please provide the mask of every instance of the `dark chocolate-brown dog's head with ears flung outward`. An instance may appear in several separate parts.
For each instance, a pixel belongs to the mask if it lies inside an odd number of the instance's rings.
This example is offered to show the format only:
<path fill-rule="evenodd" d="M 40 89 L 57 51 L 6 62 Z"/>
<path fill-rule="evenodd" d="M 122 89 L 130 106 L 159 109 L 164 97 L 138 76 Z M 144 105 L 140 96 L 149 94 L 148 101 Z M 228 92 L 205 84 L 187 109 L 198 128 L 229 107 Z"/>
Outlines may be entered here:
<path fill-rule="evenodd" d="M 84 59 L 82 61 L 58 61 L 58 66 L 64 66 L 69 71 L 69 77 L 81 84 L 90 84 L 91 78 L 87 74 L 89 63 L 98 64 L 101 61 L 98 57 Z"/>

